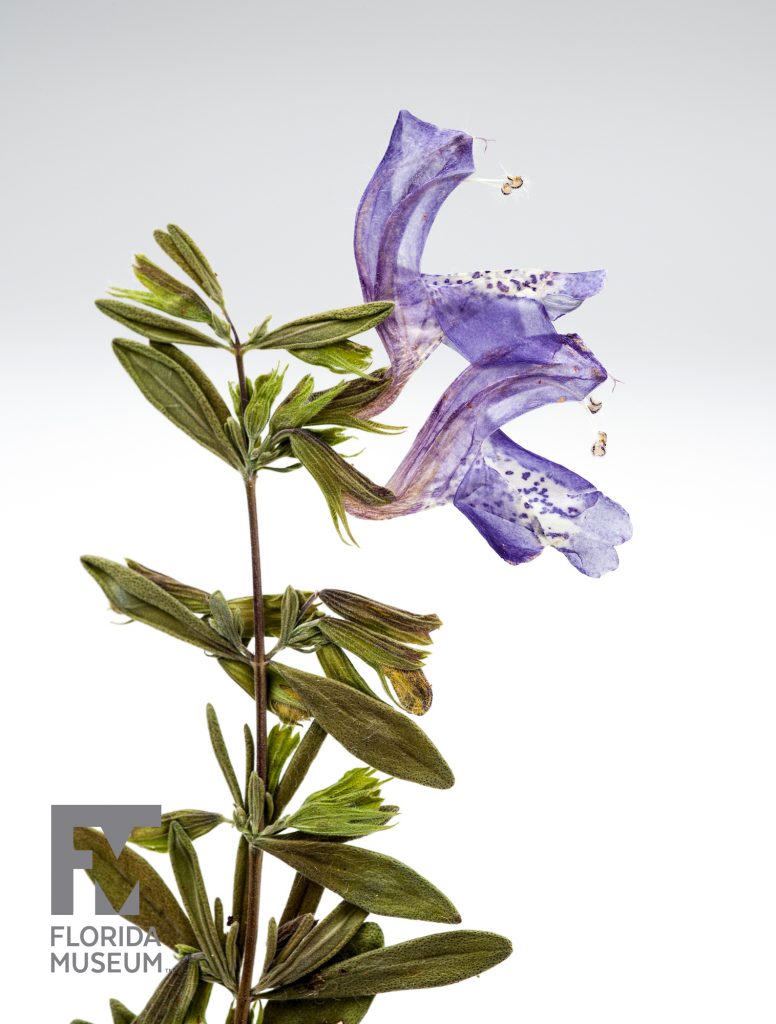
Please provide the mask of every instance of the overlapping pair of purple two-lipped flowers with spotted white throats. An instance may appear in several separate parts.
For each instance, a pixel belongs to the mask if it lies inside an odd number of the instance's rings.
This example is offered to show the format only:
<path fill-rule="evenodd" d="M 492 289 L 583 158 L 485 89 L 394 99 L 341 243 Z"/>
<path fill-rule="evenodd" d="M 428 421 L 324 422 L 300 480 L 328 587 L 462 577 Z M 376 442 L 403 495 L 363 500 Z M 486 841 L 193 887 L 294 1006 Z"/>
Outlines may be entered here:
<path fill-rule="evenodd" d="M 395 501 L 352 507 L 363 518 L 452 502 L 507 561 L 562 551 L 586 575 L 617 565 L 628 513 L 588 480 L 521 449 L 500 429 L 553 401 L 584 399 L 606 371 L 577 335 L 553 321 L 600 291 L 604 272 L 507 268 L 425 274 L 420 263 L 436 214 L 473 169 L 472 138 L 402 111 L 356 215 L 355 256 L 368 301 L 396 308 L 378 328 L 392 386 L 385 409 L 444 342 L 471 366 L 447 388 L 388 486 Z"/>

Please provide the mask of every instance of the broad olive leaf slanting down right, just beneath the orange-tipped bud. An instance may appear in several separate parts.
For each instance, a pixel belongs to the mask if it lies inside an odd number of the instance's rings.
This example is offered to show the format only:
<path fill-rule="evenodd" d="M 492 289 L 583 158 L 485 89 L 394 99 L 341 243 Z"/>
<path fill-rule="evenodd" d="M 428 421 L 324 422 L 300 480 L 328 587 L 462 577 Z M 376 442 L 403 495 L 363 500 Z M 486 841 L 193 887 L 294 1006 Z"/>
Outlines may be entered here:
<path fill-rule="evenodd" d="M 435 790 L 448 790 L 455 782 L 426 733 L 393 708 L 346 683 L 272 664 L 322 728 L 361 761 Z"/>

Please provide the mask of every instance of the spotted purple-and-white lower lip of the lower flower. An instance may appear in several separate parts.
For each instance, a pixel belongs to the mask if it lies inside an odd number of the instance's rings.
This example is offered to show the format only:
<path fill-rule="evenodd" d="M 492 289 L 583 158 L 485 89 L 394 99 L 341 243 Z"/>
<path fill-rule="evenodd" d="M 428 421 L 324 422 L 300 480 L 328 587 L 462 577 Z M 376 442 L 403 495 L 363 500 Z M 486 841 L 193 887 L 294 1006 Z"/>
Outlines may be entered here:
<path fill-rule="evenodd" d="M 589 480 L 526 452 L 502 431 L 482 445 L 455 504 L 513 564 L 552 547 L 585 575 L 600 577 L 617 567 L 614 546 L 632 534 L 621 506 Z"/>

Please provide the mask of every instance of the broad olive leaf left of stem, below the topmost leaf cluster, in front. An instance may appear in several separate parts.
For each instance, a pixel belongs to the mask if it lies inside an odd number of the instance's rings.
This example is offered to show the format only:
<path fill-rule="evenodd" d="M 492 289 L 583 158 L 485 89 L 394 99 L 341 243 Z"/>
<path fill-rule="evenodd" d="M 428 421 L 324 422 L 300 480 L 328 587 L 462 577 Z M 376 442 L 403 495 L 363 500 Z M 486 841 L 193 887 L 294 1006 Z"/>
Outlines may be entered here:
<path fill-rule="evenodd" d="M 240 456 L 212 404 L 212 393 L 203 391 L 179 360 L 159 348 L 124 338 L 114 341 L 114 351 L 152 406 L 203 447 L 242 470 Z"/>

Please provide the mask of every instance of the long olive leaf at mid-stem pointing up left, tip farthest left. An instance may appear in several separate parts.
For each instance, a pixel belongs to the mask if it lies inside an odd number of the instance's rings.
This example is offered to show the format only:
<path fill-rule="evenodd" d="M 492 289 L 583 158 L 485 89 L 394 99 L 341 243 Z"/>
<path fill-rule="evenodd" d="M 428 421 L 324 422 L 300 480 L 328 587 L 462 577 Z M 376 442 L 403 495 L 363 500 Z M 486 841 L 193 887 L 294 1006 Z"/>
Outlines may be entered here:
<path fill-rule="evenodd" d="M 235 656 L 220 634 L 146 577 L 97 555 L 84 555 L 81 564 L 102 588 L 111 607 L 121 614 L 204 650 Z"/>

